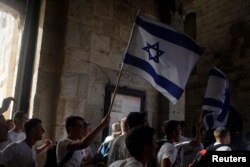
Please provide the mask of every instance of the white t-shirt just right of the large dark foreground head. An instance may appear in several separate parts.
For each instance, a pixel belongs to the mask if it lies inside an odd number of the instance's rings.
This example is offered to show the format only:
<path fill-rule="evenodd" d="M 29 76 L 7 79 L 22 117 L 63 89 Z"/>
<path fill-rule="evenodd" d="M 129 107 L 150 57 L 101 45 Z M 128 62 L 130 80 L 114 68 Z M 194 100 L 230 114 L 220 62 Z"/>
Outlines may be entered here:
<path fill-rule="evenodd" d="M 173 144 L 169 142 L 164 143 L 157 154 L 158 164 L 165 158 L 168 158 L 171 164 L 173 164 L 176 160 L 177 152 L 177 148 Z"/>

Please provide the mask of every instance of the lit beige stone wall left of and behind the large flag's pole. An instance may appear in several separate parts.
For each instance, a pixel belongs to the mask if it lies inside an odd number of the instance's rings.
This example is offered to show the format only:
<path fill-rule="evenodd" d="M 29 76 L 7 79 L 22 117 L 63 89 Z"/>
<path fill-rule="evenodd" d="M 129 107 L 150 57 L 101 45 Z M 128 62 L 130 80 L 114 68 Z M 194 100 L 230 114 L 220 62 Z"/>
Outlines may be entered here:
<path fill-rule="evenodd" d="M 45 1 L 43 1 L 45 2 Z M 157 18 L 153 0 L 46 1 L 34 115 L 47 135 L 66 135 L 65 118 L 83 116 L 91 127 L 103 117 L 105 86 L 115 85 L 138 9 Z M 120 86 L 146 93 L 145 110 L 156 126 L 158 92 L 142 78 L 123 72 Z M 101 134 L 94 145 L 99 145 Z"/>

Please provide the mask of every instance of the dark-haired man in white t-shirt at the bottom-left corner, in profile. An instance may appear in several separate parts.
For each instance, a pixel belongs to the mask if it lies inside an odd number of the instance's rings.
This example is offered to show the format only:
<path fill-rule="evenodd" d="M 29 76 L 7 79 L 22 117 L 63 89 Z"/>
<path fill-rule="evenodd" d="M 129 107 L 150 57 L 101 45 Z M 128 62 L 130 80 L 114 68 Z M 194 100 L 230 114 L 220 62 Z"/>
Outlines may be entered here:
<path fill-rule="evenodd" d="M 45 132 L 42 121 L 32 118 L 24 126 L 26 139 L 9 144 L 0 152 L 0 167 L 36 167 L 35 143 Z"/>

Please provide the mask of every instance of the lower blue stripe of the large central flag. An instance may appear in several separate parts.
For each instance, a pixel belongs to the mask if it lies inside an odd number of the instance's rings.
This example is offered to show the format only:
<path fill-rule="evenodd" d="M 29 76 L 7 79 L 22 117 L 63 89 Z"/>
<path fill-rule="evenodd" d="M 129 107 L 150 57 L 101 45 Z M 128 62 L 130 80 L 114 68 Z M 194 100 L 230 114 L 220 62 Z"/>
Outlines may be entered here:
<path fill-rule="evenodd" d="M 157 85 L 161 86 L 176 99 L 181 97 L 183 89 L 169 81 L 167 78 L 158 75 L 155 69 L 147 61 L 126 53 L 124 63 L 135 66 L 147 72 L 154 79 Z"/>

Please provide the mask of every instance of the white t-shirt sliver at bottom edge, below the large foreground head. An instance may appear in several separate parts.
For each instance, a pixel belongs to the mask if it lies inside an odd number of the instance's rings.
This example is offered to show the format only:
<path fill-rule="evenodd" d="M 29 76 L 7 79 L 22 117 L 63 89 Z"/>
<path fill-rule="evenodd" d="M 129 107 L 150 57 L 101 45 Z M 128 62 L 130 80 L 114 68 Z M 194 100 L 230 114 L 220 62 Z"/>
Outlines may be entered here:
<path fill-rule="evenodd" d="M 144 167 L 143 164 L 137 161 L 134 157 L 125 160 L 118 160 L 109 165 L 109 167 Z"/>

